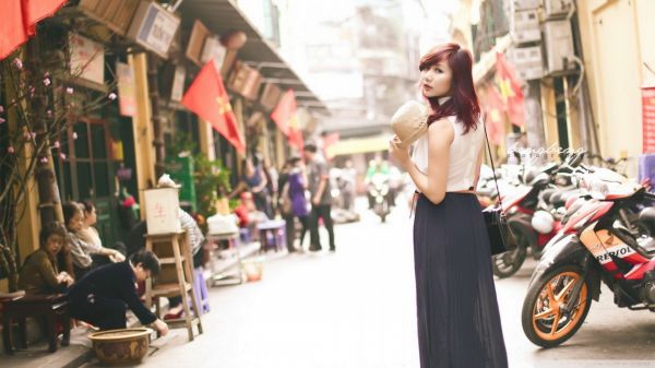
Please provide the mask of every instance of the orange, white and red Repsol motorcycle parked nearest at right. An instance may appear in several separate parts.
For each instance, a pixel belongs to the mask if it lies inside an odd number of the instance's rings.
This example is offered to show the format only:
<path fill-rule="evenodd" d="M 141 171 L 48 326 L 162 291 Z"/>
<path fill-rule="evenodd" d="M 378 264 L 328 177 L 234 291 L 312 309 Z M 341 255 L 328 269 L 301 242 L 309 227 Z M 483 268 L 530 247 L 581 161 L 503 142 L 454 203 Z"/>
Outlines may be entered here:
<path fill-rule="evenodd" d="M 655 239 L 630 232 L 621 222 L 622 210 L 655 194 L 602 174 L 584 165 L 576 168 L 584 203 L 548 242 L 532 275 L 522 324 L 536 345 L 552 347 L 571 339 L 592 300 L 598 300 L 602 282 L 619 308 L 655 311 Z M 642 217 L 651 216 L 644 210 Z"/>

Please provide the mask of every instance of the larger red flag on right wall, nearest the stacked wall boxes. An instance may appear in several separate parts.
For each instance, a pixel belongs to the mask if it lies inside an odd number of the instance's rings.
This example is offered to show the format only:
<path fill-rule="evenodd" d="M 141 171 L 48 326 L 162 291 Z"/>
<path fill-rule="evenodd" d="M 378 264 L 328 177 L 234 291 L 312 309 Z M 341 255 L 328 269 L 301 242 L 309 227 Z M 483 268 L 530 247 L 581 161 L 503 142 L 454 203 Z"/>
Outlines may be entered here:
<path fill-rule="evenodd" d="M 496 79 L 502 100 L 507 106 L 508 117 L 516 127 L 525 126 L 523 91 L 514 74 L 513 68 L 507 62 L 502 52 L 496 54 Z"/>

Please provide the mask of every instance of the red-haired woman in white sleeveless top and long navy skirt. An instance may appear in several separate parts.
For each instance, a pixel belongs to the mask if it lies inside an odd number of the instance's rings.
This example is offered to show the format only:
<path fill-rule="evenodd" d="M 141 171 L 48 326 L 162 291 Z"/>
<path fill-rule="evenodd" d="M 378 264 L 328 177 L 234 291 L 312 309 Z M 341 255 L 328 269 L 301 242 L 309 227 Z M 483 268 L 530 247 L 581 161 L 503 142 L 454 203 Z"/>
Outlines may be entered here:
<path fill-rule="evenodd" d="M 489 239 L 473 189 L 485 133 L 471 54 L 456 44 L 420 60 L 431 115 L 414 156 L 390 151 L 417 188 L 414 258 L 420 367 L 507 367 Z"/>

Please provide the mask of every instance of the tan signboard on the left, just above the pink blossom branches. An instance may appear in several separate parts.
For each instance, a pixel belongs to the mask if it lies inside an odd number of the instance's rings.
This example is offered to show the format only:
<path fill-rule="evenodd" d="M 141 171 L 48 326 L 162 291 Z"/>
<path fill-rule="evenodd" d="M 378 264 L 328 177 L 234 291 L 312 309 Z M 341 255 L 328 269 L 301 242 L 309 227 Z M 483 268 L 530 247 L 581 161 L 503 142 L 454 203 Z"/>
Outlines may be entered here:
<path fill-rule="evenodd" d="M 71 74 L 91 82 L 105 84 L 105 48 L 102 44 L 69 33 Z"/>

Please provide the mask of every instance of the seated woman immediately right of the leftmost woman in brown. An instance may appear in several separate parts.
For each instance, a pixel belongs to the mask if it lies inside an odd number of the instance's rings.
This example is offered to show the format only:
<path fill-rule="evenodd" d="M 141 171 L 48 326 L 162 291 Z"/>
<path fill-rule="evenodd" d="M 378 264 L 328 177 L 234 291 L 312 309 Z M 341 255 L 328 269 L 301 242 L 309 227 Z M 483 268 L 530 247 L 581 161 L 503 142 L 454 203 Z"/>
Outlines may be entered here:
<path fill-rule="evenodd" d="M 80 236 L 80 232 L 84 228 L 84 211 L 83 206 L 76 202 L 67 202 L 62 206 L 66 228 L 69 232 L 69 249 L 75 270 L 75 278 L 80 280 L 94 264 L 92 256 L 105 256 L 112 262 L 117 262 L 122 258 L 122 254 L 115 249 L 103 247 L 100 244 L 86 242 Z"/>

